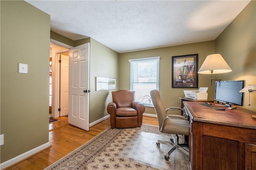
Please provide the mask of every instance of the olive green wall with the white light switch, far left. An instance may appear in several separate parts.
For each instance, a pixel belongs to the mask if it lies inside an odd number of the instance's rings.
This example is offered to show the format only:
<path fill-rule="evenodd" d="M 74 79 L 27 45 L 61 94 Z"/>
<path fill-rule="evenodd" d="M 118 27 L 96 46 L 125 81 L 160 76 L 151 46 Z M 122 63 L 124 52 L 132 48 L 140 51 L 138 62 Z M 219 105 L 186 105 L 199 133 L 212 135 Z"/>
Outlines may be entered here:
<path fill-rule="evenodd" d="M 50 16 L 25 1 L 0 6 L 2 163 L 48 143 Z"/>

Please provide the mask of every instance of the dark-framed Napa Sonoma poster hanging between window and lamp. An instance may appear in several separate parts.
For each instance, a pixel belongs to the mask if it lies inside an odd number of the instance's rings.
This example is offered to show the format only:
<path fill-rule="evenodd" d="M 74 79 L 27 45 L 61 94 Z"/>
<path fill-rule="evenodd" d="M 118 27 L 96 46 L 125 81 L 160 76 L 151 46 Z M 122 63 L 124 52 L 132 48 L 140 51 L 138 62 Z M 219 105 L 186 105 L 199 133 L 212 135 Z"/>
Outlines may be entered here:
<path fill-rule="evenodd" d="M 198 88 L 198 54 L 172 56 L 172 88 Z"/>

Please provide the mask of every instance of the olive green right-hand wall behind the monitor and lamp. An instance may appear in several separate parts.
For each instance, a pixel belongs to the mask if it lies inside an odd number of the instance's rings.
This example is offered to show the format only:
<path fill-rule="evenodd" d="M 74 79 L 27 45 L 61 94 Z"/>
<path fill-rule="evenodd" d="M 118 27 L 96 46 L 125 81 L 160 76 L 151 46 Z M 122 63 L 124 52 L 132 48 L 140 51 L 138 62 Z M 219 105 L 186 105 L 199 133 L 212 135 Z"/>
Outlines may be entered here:
<path fill-rule="evenodd" d="M 256 85 L 256 1 L 228 25 L 216 39 L 216 53 L 220 53 L 232 72 L 218 74 L 222 80 L 245 80 L 245 85 Z M 245 93 L 244 107 L 256 111 L 256 94 Z"/>

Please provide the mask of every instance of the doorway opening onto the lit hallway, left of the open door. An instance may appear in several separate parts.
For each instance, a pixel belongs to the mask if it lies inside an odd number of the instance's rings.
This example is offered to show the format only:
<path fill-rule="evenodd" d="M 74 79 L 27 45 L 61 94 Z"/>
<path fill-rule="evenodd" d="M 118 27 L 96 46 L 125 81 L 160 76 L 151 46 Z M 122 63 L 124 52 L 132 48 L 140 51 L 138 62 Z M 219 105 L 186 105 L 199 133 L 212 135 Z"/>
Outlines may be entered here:
<path fill-rule="evenodd" d="M 50 43 L 49 115 L 68 115 L 69 49 Z"/>

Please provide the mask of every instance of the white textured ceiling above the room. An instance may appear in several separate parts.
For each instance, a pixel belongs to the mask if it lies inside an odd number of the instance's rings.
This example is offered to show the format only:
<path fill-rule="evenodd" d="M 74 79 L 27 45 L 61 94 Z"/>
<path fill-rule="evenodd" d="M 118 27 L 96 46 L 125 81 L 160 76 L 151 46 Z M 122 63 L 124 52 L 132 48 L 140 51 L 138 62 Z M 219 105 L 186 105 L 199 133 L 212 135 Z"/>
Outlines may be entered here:
<path fill-rule="evenodd" d="M 51 30 L 92 37 L 118 53 L 214 40 L 250 0 L 26 0 Z"/>

